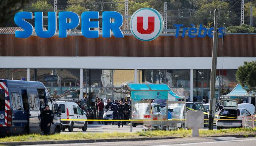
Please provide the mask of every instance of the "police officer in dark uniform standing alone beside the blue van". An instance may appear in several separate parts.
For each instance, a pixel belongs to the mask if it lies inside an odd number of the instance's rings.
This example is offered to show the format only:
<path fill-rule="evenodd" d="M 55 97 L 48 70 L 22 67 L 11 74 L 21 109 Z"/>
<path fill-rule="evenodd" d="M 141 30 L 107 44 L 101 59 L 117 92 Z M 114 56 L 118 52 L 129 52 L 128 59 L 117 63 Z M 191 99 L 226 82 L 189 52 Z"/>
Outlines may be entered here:
<path fill-rule="evenodd" d="M 51 129 L 51 124 L 53 124 L 53 111 L 50 110 L 49 105 L 45 106 L 45 109 L 42 111 L 40 114 L 41 117 L 41 123 L 42 123 L 42 128 L 44 130 L 44 134 L 49 134 L 50 129 Z"/>

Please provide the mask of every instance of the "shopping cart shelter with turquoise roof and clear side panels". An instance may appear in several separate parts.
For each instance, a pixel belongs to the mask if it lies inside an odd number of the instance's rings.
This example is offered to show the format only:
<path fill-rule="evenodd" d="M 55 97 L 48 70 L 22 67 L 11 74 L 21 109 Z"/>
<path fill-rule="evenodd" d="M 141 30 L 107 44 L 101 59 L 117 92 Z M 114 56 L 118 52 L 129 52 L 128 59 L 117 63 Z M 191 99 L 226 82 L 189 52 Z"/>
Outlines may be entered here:
<path fill-rule="evenodd" d="M 132 126 L 143 124 L 143 130 L 176 130 L 186 128 L 186 99 L 174 93 L 166 84 L 128 84 L 131 90 Z M 160 113 L 153 114 L 151 100 L 166 102 Z"/>

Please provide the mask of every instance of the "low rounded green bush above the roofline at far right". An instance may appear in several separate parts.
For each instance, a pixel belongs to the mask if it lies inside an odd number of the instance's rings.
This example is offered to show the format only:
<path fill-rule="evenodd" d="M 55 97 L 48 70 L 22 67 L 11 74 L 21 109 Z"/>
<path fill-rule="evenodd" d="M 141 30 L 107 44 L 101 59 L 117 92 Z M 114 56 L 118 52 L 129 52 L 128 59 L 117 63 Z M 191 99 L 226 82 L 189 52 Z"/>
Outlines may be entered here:
<path fill-rule="evenodd" d="M 256 28 L 247 24 L 242 24 L 242 26 L 229 26 L 227 27 L 227 33 L 256 33 Z"/>

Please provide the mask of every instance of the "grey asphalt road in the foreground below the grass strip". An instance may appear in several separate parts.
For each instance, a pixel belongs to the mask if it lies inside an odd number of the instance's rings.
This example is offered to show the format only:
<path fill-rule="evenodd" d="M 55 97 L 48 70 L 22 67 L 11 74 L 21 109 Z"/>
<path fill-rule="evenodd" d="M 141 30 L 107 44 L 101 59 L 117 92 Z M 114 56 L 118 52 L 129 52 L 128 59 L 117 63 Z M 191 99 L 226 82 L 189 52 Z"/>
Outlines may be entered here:
<path fill-rule="evenodd" d="M 98 143 L 74 143 L 74 144 L 51 144 L 49 146 L 254 146 L 256 137 L 214 137 L 214 138 L 176 138 L 165 140 L 147 141 L 123 141 L 123 142 L 98 142 Z M 36 145 L 39 146 L 39 145 Z M 48 145 L 44 145 L 48 146 Z"/>

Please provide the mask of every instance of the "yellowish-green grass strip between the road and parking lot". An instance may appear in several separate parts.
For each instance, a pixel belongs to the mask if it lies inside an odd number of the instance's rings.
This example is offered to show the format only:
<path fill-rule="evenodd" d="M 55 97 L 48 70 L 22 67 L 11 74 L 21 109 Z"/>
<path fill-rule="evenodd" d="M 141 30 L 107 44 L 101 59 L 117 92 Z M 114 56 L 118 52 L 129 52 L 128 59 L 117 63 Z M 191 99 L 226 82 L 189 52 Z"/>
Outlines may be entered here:
<path fill-rule="evenodd" d="M 222 135 L 256 135 L 256 128 L 231 128 L 221 130 L 199 130 L 200 137 L 222 136 Z M 117 139 L 117 138 L 145 138 L 145 137 L 191 137 L 191 130 L 175 131 L 141 131 L 141 132 L 76 132 L 70 134 L 53 135 L 18 135 L 0 138 L 0 142 L 22 142 L 22 141 L 50 141 L 50 140 L 83 140 L 83 139 Z"/>

